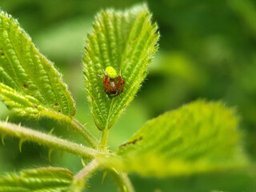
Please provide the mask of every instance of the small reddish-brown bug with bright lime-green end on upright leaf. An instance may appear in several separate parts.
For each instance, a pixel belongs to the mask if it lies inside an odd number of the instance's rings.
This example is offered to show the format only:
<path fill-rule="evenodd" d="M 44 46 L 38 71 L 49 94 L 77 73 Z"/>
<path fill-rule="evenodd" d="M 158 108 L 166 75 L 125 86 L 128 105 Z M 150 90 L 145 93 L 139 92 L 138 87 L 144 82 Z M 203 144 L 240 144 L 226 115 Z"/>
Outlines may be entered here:
<path fill-rule="evenodd" d="M 106 71 L 103 70 L 105 77 L 98 74 L 98 77 L 103 79 L 104 91 L 110 98 L 114 98 L 119 94 L 122 94 L 123 86 L 125 85 L 125 79 L 121 78 L 121 69 L 119 76 L 112 66 L 106 67 Z"/>

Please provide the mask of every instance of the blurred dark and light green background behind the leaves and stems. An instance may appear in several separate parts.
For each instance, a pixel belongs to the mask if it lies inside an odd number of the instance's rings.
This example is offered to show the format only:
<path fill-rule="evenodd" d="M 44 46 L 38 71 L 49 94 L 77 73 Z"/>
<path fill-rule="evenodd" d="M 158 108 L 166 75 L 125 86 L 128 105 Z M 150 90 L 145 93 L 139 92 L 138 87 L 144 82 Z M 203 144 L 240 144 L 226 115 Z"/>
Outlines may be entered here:
<path fill-rule="evenodd" d="M 1 0 L 0 7 L 30 34 L 36 46 L 55 63 L 70 86 L 77 103 L 78 120 L 99 136 L 90 114 L 82 77 L 82 54 L 86 34 L 94 15 L 101 9 L 126 9 L 140 1 L 82 0 Z M 149 68 L 149 75 L 134 102 L 110 130 L 110 149 L 115 150 L 146 120 L 197 98 L 222 100 L 236 106 L 241 116 L 242 145 L 256 159 L 256 1 L 254 0 L 150 0 L 147 2 L 158 22 L 160 49 Z M 50 131 L 72 141 L 78 134 L 56 122 L 33 122 L 19 118 L 0 104 L 0 118 L 37 130 Z M 229 139 L 229 135 L 226 135 Z M 82 168 L 81 159 L 25 142 L 22 154 L 18 139 L 6 138 L 0 146 L 0 173 L 38 166 L 64 166 L 74 173 Z M 142 178 L 130 175 L 137 191 L 256 191 L 251 172 L 198 174 L 179 178 Z M 102 184 L 102 172 L 90 179 L 88 191 L 117 191 L 110 176 Z"/>

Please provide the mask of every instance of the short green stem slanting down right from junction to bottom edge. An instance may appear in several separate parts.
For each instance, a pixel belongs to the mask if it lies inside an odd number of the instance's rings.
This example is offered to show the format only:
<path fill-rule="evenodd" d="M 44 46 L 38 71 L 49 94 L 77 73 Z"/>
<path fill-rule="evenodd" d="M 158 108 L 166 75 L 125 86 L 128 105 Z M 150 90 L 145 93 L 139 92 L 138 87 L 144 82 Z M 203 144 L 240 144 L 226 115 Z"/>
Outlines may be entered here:
<path fill-rule="evenodd" d="M 117 183 L 122 192 L 134 192 L 134 186 L 130 182 L 130 178 L 126 173 L 122 171 L 117 171 L 114 168 L 110 170 L 110 174 L 112 178 L 114 178 L 114 182 Z"/>

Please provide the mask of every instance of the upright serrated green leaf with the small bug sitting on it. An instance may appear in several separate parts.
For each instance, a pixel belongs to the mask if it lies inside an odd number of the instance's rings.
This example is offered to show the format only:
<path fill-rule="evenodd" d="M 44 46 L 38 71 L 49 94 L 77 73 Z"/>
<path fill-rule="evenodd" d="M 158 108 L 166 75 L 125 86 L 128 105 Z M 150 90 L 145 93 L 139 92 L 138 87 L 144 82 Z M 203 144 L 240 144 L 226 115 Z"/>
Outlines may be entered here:
<path fill-rule="evenodd" d="M 95 18 L 86 41 L 84 76 L 91 113 L 100 130 L 113 126 L 146 77 L 159 38 L 151 17 L 146 6 L 135 6 L 125 11 L 102 11 Z M 98 77 L 107 66 L 118 72 L 121 69 L 125 79 L 123 93 L 114 98 L 104 92 Z"/>

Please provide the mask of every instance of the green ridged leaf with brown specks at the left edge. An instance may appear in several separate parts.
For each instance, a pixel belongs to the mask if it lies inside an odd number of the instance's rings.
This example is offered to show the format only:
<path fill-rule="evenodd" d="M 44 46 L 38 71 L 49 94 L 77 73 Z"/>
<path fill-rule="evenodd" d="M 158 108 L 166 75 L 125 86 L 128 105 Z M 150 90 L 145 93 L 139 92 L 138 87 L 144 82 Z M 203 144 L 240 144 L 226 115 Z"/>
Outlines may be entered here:
<path fill-rule="evenodd" d="M 39 53 L 31 38 L 9 14 L 0 12 L 0 98 L 18 112 L 74 115 L 74 100 L 54 64 Z"/>

